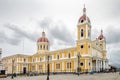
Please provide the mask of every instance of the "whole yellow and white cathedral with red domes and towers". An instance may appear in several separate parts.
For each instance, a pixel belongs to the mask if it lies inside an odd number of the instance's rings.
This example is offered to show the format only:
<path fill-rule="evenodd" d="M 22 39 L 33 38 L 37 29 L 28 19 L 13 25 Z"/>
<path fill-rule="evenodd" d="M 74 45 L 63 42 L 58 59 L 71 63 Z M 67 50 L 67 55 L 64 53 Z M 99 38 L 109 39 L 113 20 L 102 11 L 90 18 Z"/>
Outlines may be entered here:
<path fill-rule="evenodd" d="M 42 32 L 42 37 L 37 40 L 37 52 L 33 55 L 16 54 L 2 58 L 3 69 L 8 74 L 47 71 L 48 55 L 50 72 L 80 72 L 102 71 L 108 69 L 106 57 L 106 39 L 101 30 L 100 36 L 91 40 L 91 22 L 83 8 L 83 15 L 78 20 L 76 47 L 50 50 L 50 41 Z"/>

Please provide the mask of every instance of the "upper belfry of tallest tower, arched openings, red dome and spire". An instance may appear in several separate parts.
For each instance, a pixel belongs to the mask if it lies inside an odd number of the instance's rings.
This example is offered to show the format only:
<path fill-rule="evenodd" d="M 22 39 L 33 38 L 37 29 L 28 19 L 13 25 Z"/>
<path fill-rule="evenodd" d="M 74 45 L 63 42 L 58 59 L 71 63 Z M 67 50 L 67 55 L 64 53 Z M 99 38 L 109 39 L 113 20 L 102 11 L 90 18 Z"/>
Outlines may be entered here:
<path fill-rule="evenodd" d="M 91 23 L 86 15 L 86 8 L 83 8 L 83 15 L 78 20 L 78 41 L 91 40 Z"/>

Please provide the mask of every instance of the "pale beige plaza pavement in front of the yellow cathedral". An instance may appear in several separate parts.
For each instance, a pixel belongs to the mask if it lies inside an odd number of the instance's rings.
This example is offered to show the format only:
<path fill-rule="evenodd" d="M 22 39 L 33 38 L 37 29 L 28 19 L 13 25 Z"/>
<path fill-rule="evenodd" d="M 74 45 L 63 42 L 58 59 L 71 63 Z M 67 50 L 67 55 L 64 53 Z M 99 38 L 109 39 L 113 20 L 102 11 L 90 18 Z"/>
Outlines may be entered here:
<path fill-rule="evenodd" d="M 14 79 L 11 77 L 0 78 L 0 80 L 46 80 L 46 75 L 40 76 L 17 76 Z M 50 75 L 50 80 L 120 80 L 119 73 L 95 73 L 91 74 L 56 74 Z"/>

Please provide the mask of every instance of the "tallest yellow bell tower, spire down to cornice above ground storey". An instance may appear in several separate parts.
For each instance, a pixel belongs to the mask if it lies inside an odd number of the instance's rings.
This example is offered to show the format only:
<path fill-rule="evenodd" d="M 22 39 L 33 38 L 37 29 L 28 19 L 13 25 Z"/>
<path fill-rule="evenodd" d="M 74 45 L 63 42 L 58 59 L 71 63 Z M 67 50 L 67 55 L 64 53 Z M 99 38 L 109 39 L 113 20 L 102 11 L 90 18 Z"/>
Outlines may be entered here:
<path fill-rule="evenodd" d="M 86 15 L 86 8 L 84 5 L 83 15 L 78 20 L 77 25 L 77 50 L 81 54 L 89 54 L 91 47 L 91 22 L 89 17 Z"/>

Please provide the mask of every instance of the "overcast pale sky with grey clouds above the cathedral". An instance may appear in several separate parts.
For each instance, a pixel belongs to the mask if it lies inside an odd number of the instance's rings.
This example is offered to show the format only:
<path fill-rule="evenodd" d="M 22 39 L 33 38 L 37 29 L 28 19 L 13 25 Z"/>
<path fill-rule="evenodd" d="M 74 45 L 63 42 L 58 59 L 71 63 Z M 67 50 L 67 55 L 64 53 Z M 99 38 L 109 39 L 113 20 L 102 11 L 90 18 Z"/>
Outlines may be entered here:
<path fill-rule="evenodd" d="M 35 54 L 43 30 L 51 51 L 75 47 L 84 4 L 92 25 L 92 40 L 102 29 L 109 64 L 120 67 L 120 0 L 0 0 L 2 57 Z"/>

